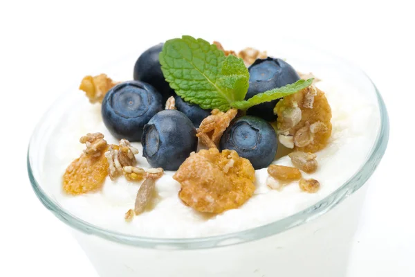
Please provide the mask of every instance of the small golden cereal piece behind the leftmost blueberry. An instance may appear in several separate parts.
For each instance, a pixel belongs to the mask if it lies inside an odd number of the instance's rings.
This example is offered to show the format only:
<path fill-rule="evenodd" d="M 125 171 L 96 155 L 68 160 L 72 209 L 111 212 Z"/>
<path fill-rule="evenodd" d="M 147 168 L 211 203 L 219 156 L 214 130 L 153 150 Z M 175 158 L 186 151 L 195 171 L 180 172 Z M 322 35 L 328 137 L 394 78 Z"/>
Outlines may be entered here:
<path fill-rule="evenodd" d="M 102 102 L 105 93 L 109 91 L 117 83 L 113 82 L 107 74 L 100 74 L 96 76 L 85 76 L 80 84 L 80 90 L 85 91 L 86 97 L 89 98 L 89 102 L 96 103 Z"/>

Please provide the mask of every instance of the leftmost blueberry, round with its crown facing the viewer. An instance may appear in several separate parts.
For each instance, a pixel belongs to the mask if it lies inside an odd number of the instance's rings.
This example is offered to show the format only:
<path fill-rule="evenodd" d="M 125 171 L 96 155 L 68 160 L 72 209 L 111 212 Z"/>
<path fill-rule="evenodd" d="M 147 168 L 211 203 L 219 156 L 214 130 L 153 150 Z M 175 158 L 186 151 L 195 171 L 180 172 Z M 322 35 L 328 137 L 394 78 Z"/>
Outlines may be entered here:
<path fill-rule="evenodd" d="M 163 109 L 163 99 L 150 84 L 127 81 L 110 89 L 102 101 L 102 120 L 118 139 L 140 141 L 149 120 Z"/>

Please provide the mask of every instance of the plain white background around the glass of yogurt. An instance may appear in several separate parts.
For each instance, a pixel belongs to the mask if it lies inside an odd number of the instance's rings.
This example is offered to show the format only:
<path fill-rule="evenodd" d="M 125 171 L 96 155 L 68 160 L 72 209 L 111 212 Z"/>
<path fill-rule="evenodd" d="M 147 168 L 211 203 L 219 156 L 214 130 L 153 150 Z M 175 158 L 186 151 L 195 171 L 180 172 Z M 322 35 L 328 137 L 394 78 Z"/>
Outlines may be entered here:
<path fill-rule="evenodd" d="M 391 134 L 349 276 L 415 276 L 412 1 L 138 2 L 0 2 L 0 276 L 97 276 L 30 188 L 29 136 L 59 93 L 83 75 L 137 46 L 183 34 L 221 42 L 244 36 L 252 46 L 255 37 L 269 36 L 275 47 L 295 37 L 369 74 L 385 99 Z"/>

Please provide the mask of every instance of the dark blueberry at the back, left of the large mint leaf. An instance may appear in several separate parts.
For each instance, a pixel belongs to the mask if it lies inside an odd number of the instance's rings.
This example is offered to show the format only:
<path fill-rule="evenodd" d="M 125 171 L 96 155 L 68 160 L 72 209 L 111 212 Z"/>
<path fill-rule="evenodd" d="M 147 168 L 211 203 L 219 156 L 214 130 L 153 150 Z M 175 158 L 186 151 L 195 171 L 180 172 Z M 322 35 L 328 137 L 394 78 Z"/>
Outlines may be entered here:
<path fill-rule="evenodd" d="M 160 43 L 147 49 L 138 57 L 134 66 L 134 80 L 151 84 L 163 95 L 163 100 L 166 101 L 169 96 L 174 95 L 174 90 L 170 88 L 161 71 L 158 54 L 162 49 L 163 44 Z"/>

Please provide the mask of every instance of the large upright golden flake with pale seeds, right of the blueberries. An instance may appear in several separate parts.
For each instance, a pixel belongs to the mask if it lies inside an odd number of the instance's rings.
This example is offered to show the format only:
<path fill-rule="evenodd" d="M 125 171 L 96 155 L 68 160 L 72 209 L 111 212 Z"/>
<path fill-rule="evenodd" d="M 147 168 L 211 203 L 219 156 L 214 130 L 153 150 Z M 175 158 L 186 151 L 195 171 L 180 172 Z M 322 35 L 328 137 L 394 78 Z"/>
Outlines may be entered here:
<path fill-rule="evenodd" d="M 301 109 L 299 122 L 297 108 Z M 331 136 L 331 107 L 323 91 L 311 85 L 284 97 L 274 112 L 279 139 L 293 136 L 294 150 L 314 153 L 326 147 Z"/>

